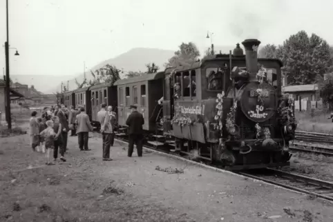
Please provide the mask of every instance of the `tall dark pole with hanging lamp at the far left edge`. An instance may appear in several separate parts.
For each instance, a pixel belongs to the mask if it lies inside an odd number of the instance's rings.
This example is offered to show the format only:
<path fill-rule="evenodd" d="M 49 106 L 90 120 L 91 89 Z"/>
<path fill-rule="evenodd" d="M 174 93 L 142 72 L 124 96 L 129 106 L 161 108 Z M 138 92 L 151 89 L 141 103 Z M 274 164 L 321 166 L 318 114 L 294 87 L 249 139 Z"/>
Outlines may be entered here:
<path fill-rule="evenodd" d="M 8 130 L 12 130 L 12 117 L 10 116 L 10 76 L 9 76 L 9 25 L 8 25 L 8 0 L 6 0 L 6 19 L 7 19 L 7 41 L 5 42 L 6 54 L 6 120 L 8 123 Z M 16 49 L 16 48 L 15 48 Z M 19 55 L 16 49 L 16 56 Z"/>

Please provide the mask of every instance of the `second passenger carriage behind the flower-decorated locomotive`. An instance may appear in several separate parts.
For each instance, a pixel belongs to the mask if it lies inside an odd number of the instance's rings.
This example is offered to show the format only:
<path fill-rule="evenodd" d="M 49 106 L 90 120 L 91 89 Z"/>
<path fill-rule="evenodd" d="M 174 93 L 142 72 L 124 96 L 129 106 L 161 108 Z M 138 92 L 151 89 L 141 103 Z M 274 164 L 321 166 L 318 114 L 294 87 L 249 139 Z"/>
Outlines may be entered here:
<path fill-rule="evenodd" d="M 101 104 L 112 105 L 113 111 L 117 112 L 117 86 L 111 83 L 100 83 L 93 85 L 91 91 L 91 121 L 97 128 L 100 123 L 97 119 L 97 112 L 101 109 Z"/>

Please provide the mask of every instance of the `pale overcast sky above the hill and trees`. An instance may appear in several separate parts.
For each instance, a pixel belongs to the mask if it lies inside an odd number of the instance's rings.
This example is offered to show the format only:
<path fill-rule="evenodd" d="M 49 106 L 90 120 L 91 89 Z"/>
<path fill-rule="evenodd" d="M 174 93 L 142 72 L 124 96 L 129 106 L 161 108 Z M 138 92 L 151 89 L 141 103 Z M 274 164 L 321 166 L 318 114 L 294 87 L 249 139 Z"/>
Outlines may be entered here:
<path fill-rule="evenodd" d="M 176 50 L 193 41 L 234 46 L 246 38 L 283 43 L 314 32 L 333 44 L 331 0 L 10 0 L 11 74 L 76 74 L 136 47 Z M 0 42 L 6 1 L 0 1 Z M 0 68 L 5 66 L 1 48 Z"/>

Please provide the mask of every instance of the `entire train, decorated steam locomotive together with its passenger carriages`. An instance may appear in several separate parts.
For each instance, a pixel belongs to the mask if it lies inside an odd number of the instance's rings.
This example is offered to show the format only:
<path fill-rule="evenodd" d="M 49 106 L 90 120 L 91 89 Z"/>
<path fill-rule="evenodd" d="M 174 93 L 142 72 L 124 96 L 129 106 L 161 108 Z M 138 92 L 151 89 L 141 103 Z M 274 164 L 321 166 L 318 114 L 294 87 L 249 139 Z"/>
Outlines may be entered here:
<path fill-rule="evenodd" d="M 144 116 L 148 143 L 174 146 L 172 151 L 229 170 L 289 165 L 294 101 L 281 94 L 283 63 L 258 59 L 259 44 L 247 39 L 245 55 L 237 44 L 232 54 L 216 54 L 190 67 L 66 92 L 65 104 L 85 105 L 97 128 L 99 105 L 113 105 L 120 137 L 126 136 L 129 105 L 135 104 Z"/>

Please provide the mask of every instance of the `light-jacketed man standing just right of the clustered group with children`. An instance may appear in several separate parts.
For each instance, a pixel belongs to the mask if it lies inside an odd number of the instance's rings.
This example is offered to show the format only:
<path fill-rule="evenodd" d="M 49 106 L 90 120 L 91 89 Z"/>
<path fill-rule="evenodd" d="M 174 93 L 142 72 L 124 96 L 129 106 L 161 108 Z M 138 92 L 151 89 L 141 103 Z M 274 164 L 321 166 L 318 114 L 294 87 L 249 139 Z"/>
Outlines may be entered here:
<path fill-rule="evenodd" d="M 90 150 L 88 149 L 88 139 L 89 131 L 93 131 L 93 126 L 89 120 L 86 110 L 82 107 L 80 108 L 80 114 L 76 117 L 77 121 L 77 134 L 79 137 L 79 149 L 80 150 Z"/>

